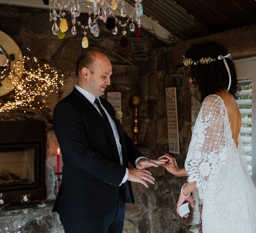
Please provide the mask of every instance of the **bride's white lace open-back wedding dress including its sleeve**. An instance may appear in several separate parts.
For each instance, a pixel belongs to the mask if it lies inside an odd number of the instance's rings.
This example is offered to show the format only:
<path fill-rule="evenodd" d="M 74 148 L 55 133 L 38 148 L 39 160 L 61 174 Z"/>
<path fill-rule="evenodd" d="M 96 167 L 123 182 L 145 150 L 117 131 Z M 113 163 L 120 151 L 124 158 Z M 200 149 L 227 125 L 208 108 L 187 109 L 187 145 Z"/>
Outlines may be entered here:
<path fill-rule="evenodd" d="M 185 168 L 203 201 L 203 233 L 255 233 L 256 190 L 238 137 L 232 138 L 227 109 L 218 95 L 203 101 Z"/>

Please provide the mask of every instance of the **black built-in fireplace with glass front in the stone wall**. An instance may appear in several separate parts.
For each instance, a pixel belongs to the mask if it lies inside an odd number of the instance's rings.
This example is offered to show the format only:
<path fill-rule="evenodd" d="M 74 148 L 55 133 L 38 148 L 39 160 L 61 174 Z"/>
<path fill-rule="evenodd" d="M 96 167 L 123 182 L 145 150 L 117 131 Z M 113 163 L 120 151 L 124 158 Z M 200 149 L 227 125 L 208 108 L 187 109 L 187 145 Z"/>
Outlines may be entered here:
<path fill-rule="evenodd" d="M 0 192 L 10 203 L 45 199 L 45 123 L 1 121 L 0 129 Z"/>

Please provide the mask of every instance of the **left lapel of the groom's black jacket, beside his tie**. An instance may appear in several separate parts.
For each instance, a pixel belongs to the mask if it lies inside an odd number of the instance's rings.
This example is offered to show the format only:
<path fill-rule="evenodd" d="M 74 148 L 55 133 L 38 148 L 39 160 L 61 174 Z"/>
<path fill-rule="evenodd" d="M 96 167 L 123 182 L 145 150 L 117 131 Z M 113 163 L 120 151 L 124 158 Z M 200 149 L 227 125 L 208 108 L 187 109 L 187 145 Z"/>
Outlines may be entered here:
<path fill-rule="evenodd" d="M 101 123 L 104 131 L 106 132 L 108 138 L 110 139 L 111 143 L 113 144 L 113 146 L 116 147 L 116 141 L 115 138 L 113 137 L 113 132 L 110 132 L 108 127 L 106 127 L 106 124 L 104 122 L 104 119 L 102 118 L 102 116 L 99 114 L 99 112 L 97 111 L 97 109 L 91 104 L 90 101 L 88 101 L 78 90 L 76 90 L 74 88 L 72 94 L 74 95 L 74 97 L 80 101 L 80 103 L 86 107 Z M 104 106 L 105 107 L 105 106 Z"/>

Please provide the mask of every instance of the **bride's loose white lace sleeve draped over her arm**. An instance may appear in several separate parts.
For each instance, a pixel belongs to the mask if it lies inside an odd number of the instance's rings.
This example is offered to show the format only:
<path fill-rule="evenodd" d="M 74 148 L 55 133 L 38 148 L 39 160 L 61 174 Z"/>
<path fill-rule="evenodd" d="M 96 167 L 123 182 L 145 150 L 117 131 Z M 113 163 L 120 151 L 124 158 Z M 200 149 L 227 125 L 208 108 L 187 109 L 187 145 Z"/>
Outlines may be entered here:
<path fill-rule="evenodd" d="M 185 168 L 188 181 L 196 181 L 201 199 L 211 178 L 218 174 L 220 166 L 224 164 L 225 155 L 221 151 L 225 144 L 224 111 L 220 97 L 206 97 L 189 145 Z"/>

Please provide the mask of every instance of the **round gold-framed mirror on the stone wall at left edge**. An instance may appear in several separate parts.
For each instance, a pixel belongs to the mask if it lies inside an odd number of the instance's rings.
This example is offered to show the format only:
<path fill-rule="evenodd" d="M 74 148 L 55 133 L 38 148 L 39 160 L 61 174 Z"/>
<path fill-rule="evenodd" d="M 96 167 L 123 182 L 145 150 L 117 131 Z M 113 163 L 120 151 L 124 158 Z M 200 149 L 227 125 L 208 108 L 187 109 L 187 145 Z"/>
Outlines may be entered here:
<path fill-rule="evenodd" d="M 17 67 L 18 72 L 12 72 Z M 13 82 L 22 79 L 23 70 L 23 55 L 19 46 L 10 36 L 0 31 L 0 97 L 14 89 Z"/>

